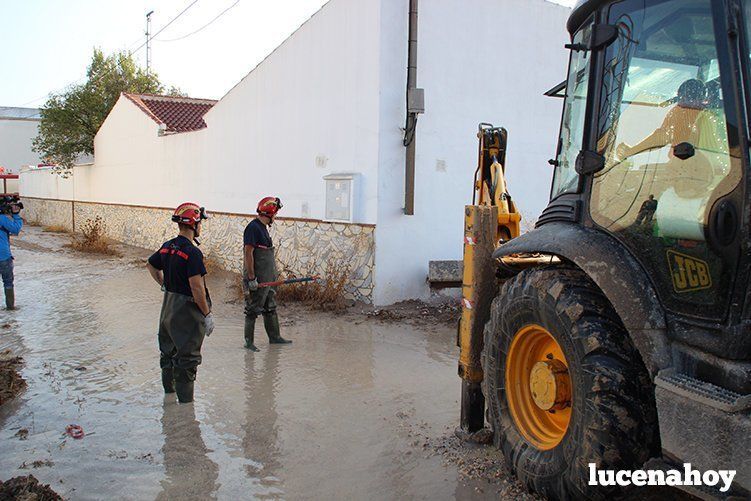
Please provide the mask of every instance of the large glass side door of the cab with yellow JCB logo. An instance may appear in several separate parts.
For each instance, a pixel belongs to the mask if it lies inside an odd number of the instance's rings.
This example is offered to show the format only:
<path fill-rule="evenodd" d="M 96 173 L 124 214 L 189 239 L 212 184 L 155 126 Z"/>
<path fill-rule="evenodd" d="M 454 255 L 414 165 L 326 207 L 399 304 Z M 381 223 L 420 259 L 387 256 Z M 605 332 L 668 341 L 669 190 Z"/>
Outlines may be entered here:
<path fill-rule="evenodd" d="M 608 22 L 593 221 L 626 243 L 669 309 L 723 316 L 733 253 L 714 213 L 738 190 L 711 0 L 625 0 Z M 738 190 L 739 191 L 739 190 Z M 732 197 L 731 197 L 732 198 Z"/>

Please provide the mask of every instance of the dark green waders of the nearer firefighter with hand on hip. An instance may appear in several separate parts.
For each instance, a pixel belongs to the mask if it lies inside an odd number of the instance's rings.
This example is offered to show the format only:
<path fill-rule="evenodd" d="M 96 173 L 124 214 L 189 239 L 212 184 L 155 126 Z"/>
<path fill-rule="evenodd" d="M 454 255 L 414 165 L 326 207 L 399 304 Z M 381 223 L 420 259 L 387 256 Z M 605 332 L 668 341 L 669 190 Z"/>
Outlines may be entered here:
<path fill-rule="evenodd" d="M 193 298 L 165 292 L 159 316 L 159 365 L 165 393 L 177 391 L 182 403 L 193 401 L 193 382 L 205 335 L 204 317 Z"/>

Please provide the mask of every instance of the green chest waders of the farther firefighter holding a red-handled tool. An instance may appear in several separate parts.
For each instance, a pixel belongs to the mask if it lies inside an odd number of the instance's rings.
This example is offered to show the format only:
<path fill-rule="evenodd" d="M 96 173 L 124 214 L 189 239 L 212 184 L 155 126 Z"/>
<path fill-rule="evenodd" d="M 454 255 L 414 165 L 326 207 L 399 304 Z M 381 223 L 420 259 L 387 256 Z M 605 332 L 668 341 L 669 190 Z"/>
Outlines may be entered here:
<path fill-rule="evenodd" d="M 274 249 L 253 249 L 253 263 L 259 283 L 276 280 L 276 260 Z M 255 345 L 255 327 L 258 315 L 263 315 L 263 326 L 269 336 L 269 343 L 291 343 L 281 336 L 279 317 L 276 315 L 276 287 L 259 287 L 245 294 L 245 347 L 258 351 Z"/>

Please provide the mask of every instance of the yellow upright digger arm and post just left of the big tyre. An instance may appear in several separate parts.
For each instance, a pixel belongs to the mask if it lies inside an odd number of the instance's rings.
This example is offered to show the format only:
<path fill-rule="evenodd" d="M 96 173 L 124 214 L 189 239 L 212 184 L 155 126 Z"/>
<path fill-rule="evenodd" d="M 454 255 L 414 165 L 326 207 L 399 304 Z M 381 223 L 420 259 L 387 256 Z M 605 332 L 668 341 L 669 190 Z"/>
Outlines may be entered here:
<path fill-rule="evenodd" d="M 479 155 L 475 172 L 473 205 L 464 212 L 464 275 L 462 318 L 459 324 L 459 375 L 466 381 L 482 381 L 480 354 L 485 322 L 496 293 L 493 251 L 519 236 L 521 216 L 506 186 L 506 131 L 480 127 Z"/>

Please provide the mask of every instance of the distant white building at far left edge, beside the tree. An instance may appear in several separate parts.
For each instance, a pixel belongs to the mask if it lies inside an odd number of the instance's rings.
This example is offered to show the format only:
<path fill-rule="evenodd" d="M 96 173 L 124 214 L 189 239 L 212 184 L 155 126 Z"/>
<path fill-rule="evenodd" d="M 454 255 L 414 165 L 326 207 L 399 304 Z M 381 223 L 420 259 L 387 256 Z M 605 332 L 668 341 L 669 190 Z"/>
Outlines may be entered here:
<path fill-rule="evenodd" d="M 39 163 L 39 154 L 31 147 L 40 121 L 37 108 L 0 106 L 0 167 L 6 174 L 18 174 L 22 165 Z"/>

